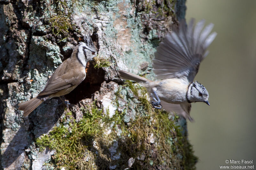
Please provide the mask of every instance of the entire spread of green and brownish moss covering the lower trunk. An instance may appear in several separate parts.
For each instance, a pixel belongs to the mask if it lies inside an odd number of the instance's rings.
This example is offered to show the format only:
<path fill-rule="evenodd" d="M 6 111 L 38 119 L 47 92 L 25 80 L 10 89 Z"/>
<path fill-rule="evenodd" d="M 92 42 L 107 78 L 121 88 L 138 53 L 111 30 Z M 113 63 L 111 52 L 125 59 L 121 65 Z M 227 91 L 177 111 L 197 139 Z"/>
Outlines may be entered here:
<path fill-rule="evenodd" d="M 124 110 L 116 111 L 110 118 L 94 103 L 81 109 L 84 116 L 79 122 L 68 112 L 59 127 L 36 139 L 37 146 L 41 151 L 45 147 L 56 151 L 53 162 L 57 169 L 108 169 L 111 165 L 124 169 L 131 157 L 135 158 L 131 169 L 195 169 L 197 158 L 182 135 L 178 116 L 153 109 L 146 89 L 131 81 L 119 87 L 116 92 L 119 100 L 125 98 L 121 94 L 124 89 L 131 89 L 134 96 L 126 95 L 138 102 L 134 107 L 135 119 L 125 122 Z M 118 99 L 114 104 L 119 107 Z M 124 106 L 129 108 L 129 102 Z M 115 143 L 113 153 L 110 150 Z"/>

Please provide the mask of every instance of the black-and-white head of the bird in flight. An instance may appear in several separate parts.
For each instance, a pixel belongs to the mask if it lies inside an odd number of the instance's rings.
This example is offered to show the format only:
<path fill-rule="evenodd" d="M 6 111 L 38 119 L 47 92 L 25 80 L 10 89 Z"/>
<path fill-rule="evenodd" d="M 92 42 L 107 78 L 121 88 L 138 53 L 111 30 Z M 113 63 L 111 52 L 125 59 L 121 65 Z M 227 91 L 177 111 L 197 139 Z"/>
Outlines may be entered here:
<path fill-rule="evenodd" d="M 187 99 L 188 102 L 204 102 L 208 105 L 209 93 L 205 87 L 198 81 L 192 82 L 188 87 Z"/>

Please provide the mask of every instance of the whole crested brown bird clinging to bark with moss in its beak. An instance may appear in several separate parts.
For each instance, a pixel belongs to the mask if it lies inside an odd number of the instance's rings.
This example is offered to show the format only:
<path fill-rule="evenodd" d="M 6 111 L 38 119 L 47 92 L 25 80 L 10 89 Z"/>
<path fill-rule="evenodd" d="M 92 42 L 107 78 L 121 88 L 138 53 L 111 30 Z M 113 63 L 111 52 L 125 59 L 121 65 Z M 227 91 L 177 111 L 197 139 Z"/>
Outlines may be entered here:
<path fill-rule="evenodd" d="M 87 61 L 91 61 L 95 56 L 97 56 L 97 51 L 90 34 L 87 34 L 84 36 L 84 42 L 80 42 L 73 49 L 71 57 L 54 71 L 43 91 L 36 97 L 18 105 L 19 109 L 24 111 L 23 115 L 28 116 L 45 100 L 66 95 L 75 89 L 85 79 Z"/>

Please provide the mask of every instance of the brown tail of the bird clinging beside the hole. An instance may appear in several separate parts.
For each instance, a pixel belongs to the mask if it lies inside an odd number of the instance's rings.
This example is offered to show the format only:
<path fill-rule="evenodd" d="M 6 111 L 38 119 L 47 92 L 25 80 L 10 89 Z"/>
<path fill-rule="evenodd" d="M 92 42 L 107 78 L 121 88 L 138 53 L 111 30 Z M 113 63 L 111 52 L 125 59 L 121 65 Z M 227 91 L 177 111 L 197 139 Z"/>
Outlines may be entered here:
<path fill-rule="evenodd" d="M 41 100 L 38 96 L 26 101 L 26 102 L 22 102 L 20 104 L 18 104 L 19 109 L 23 110 L 24 116 L 28 116 L 29 113 L 31 113 L 33 110 L 35 110 L 37 108 L 37 106 L 39 106 L 41 103 L 43 103 L 44 100 Z"/>

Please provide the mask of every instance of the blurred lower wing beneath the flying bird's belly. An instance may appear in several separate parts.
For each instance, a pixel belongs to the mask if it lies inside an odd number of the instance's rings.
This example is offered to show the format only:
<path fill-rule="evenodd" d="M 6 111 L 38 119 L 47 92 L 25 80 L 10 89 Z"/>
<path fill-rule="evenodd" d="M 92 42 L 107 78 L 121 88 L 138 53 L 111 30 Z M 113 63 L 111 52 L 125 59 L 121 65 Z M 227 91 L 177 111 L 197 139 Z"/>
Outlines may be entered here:
<path fill-rule="evenodd" d="M 188 119 L 190 121 L 193 121 L 193 119 L 190 117 L 190 110 L 191 110 L 191 104 L 172 104 L 172 103 L 167 103 L 163 100 L 161 100 L 161 104 L 163 106 L 163 109 L 165 109 L 167 112 L 170 113 L 176 113 L 180 116 L 183 116 L 185 119 Z"/>

